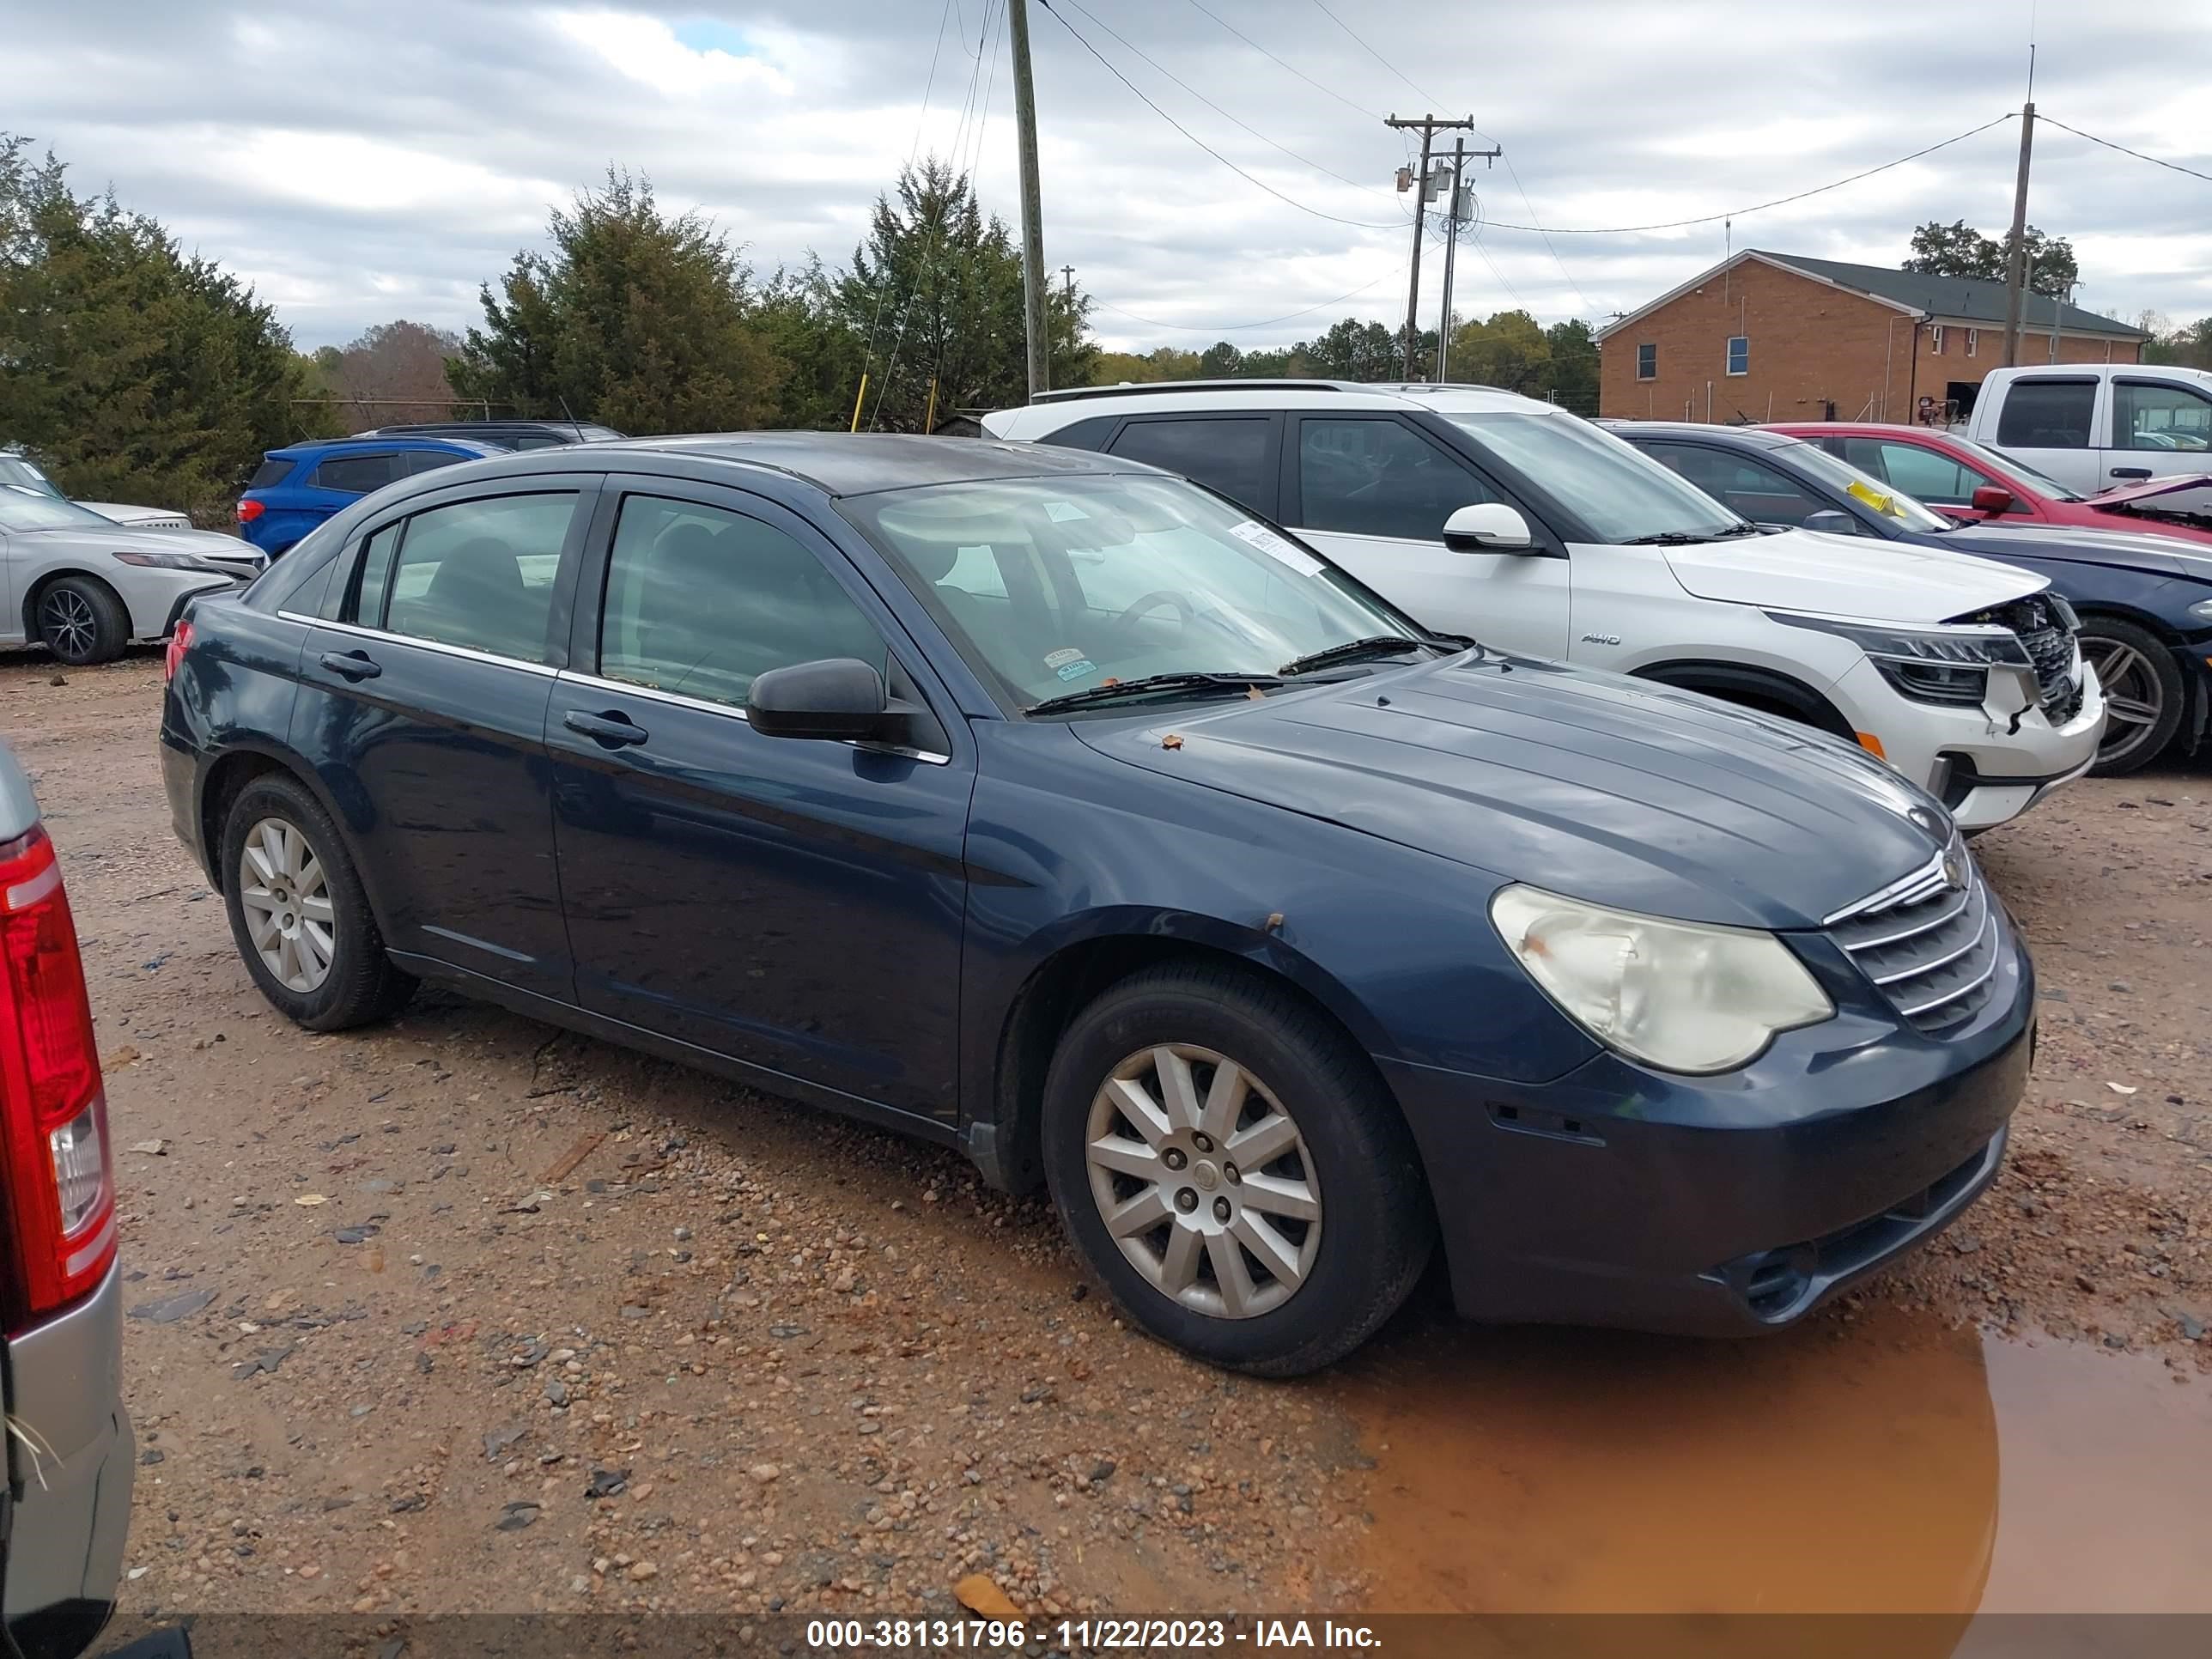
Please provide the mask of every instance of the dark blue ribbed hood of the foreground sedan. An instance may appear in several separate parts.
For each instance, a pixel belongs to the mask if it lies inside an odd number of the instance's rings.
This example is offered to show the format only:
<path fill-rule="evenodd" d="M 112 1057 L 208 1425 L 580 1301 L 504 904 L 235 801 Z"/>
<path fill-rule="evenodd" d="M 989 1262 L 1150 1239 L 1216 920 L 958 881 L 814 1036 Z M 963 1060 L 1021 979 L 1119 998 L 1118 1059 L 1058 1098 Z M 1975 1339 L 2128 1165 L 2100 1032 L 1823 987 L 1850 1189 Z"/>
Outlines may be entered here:
<path fill-rule="evenodd" d="M 1681 920 L 1820 927 L 1949 834 L 1927 796 L 1847 743 L 1524 657 L 1071 726 L 1128 765 Z"/>

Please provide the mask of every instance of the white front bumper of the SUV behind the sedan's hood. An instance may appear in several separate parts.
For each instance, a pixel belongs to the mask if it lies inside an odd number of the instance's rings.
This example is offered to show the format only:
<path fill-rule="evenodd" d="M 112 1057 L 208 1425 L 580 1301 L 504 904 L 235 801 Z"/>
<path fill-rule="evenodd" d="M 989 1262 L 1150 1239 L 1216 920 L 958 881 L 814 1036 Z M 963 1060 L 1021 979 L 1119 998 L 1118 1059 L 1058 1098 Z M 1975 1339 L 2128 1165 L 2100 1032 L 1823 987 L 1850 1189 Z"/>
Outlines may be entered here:
<path fill-rule="evenodd" d="M 1882 757 L 1938 796 L 1960 830 L 1993 830 L 2017 818 L 2097 763 L 2104 737 L 2104 688 L 2081 664 L 2081 708 L 2053 726 L 2039 708 L 1995 717 L 1984 708 L 1944 708 L 1900 697 L 1882 670 L 1860 661 L 1834 697 L 1854 728 L 1874 732 Z"/>

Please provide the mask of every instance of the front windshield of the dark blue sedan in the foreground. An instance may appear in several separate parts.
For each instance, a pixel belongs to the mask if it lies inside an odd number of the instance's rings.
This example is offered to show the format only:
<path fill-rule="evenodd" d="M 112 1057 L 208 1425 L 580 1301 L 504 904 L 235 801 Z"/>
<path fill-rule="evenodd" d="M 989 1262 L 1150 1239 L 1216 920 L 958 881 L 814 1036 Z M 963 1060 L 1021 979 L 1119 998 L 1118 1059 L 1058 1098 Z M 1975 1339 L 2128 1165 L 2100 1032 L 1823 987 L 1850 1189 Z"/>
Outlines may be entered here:
<path fill-rule="evenodd" d="M 1334 564 L 1177 478 L 1006 478 L 838 504 L 1011 706 L 1155 675 L 1272 679 L 1420 630 Z"/>

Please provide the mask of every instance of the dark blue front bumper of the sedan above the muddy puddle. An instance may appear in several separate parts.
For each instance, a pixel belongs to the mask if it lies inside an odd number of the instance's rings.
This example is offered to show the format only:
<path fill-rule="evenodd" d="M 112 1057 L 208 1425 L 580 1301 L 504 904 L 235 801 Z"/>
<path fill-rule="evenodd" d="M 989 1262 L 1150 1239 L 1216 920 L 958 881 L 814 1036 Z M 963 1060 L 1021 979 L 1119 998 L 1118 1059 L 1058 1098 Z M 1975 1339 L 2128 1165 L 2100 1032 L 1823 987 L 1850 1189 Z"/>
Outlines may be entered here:
<path fill-rule="evenodd" d="M 1383 1062 L 1460 1312 L 1745 1336 L 1940 1232 L 1995 1179 L 2026 1086 L 2033 969 L 2008 927 L 2000 949 L 2002 993 L 1940 1040 L 1838 1002 L 1723 1077 Z"/>

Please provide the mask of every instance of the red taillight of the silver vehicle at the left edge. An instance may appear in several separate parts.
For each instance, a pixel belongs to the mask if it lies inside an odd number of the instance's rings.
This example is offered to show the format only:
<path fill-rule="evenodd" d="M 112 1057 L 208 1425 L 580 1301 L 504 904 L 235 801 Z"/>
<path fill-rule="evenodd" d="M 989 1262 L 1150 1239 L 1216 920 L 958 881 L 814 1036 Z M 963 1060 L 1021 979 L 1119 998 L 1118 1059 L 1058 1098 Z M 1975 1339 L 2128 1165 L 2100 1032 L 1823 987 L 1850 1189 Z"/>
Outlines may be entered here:
<path fill-rule="evenodd" d="M 77 927 L 44 830 L 0 843 L 0 1188 L 7 1329 L 95 1290 L 115 1261 L 115 1170 Z"/>

